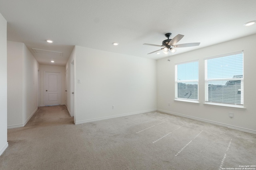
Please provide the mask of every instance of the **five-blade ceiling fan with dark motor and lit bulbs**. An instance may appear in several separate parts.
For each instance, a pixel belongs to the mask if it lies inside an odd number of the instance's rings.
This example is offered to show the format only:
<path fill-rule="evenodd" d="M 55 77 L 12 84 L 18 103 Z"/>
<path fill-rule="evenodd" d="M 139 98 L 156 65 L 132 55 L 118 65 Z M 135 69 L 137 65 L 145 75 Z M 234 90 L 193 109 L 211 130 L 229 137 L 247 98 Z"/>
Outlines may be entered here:
<path fill-rule="evenodd" d="M 156 50 L 156 51 L 153 51 L 151 53 L 148 53 L 148 54 L 152 54 L 152 53 L 156 53 L 158 51 L 161 51 L 163 50 L 164 53 L 168 53 L 168 51 L 172 52 L 172 53 L 175 53 L 176 49 L 174 48 L 180 48 L 180 47 L 194 47 L 194 46 L 198 46 L 200 45 L 200 43 L 186 43 L 186 44 L 177 44 L 178 41 L 180 41 L 184 35 L 181 35 L 181 34 L 178 34 L 176 35 L 173 39 L 169 39 L 169 37 L 172 35 L 172 33 L 166 33 L 164 34 L 168 39 L 164 40 L 162 42 L 162 45 L 155 45 L 155 44 L 143 44 L 143 45 L 151 45 L 151 46 L 156 46 L 156 47 L 162 47 L 161 49 L 159 50 Z"/>

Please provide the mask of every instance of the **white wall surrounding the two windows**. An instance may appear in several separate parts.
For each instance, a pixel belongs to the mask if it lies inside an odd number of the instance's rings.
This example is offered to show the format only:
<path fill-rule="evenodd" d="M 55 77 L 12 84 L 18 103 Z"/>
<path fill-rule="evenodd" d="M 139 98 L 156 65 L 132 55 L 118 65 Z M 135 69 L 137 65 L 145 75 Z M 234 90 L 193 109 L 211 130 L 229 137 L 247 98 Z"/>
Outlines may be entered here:
<path fill-rule="evenodd" d="M 203 119 L 234 129 L 256 133 L 255 84 L 256 84 L 256 35 L 220 43 L 171 57 L 171 61 L 157 61 L 157 108 L 166 113 Z M 245 110 L 204 105 L 204 58 L 244 50 L 244 107 Z M 199 102 L 189 104 L 174 101 L 174 65 L 199 59 Z M 168 106 L 170 103 L 170 106 Z M 228 113 L 234 113 L 230 119 Z"/>

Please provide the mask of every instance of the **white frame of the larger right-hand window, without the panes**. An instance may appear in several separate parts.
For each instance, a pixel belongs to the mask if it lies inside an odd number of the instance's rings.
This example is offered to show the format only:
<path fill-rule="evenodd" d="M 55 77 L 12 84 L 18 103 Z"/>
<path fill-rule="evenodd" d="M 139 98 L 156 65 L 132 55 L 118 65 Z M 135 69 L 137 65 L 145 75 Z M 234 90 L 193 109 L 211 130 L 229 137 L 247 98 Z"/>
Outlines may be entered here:
<path fill-rule="evenodd" d="M 235 53 L 229 53 L 229 54 L 225 54 L 225 55 L 218 55 L 218 56 L 214 56 L 214 57 L 208 57 L 204 59 L 204 70 L 205 70 L 205 103 L 204 104 L 210 104 L 210 105 L 215 105 L 215 106 L 227 106 L 227 107 L 238 107 L 238 108 L 244 108 L 244 54 L 243 54 L 243 77 L 241 78 L 212 78 L 212 79 L 208 79 L 208 68 L 207 68 L 207 61 L 209 59 L 214 59 L 214 58 L 220 58 L 220 57 L 227 57 L 230 55 L 236 55 L 239 53 L 244 53 L 244 51 L 238 51 Z M 225 102 L 212 102 L 212 101 L 208 101 L 208 82 L 211 81 L 234 81 L 234 80 L 240 80 L 241 81 L 241 104 L 233 104 L 233 103 L 225 103 Z"/>

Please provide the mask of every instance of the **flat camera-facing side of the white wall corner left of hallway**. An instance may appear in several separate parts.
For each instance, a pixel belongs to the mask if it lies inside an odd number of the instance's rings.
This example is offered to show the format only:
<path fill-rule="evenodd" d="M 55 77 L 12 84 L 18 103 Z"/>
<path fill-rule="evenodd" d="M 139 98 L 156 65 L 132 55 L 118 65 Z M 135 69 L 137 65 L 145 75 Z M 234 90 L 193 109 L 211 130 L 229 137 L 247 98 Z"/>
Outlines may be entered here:
<path fill-rule="evenodd" d="M 23 43 L 7 41 L 7 124 L 23 124 Z"/>

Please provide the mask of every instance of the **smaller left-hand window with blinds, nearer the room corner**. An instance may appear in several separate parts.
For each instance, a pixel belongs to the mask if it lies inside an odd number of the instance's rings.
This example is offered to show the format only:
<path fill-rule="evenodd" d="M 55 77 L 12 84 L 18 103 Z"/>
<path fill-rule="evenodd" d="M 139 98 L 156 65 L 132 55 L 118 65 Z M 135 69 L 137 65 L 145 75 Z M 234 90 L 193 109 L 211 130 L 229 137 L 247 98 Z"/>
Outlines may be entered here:
<path fill-rule="evenodd" d="M 175 100 L 198 101 L 198 61 L 175 65 Z"/>

